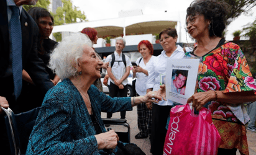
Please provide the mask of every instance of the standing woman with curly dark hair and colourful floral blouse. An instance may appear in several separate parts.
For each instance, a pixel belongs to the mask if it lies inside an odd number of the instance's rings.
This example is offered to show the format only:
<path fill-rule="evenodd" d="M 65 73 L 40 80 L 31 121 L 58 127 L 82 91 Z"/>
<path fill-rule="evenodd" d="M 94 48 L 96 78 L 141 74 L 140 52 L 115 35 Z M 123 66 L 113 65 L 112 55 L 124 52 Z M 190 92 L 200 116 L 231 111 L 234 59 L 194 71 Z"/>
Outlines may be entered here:
<path fill-rule="evenodd" d="M 240 47 L 221 38 L 227 12 L 226 3 L 213 0 L 194 1 L 187 9 L 188 33 L 198 45 L 185 55 L 200 58 L 196 93 L 188 103 L 211 111 L 221 136 L 218 154 L 249 154 L 242 103 L 256 99 L 256 84 Z"/>

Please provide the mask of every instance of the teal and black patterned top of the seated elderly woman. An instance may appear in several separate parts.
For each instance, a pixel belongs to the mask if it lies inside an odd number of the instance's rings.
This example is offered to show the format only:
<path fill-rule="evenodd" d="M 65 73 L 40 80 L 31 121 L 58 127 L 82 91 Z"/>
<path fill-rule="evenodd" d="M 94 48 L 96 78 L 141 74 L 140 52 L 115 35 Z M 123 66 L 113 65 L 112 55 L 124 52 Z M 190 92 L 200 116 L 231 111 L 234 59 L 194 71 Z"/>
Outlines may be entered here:
<path fill-rule="evenodd" d="M 132 110 L 130 97 L 111 98 L 91 85 L 94 115 L 106 132 L 101 112 Z M 26 154 L 103 154 L 83 97 L 69 79 L 50 89 L 30 135 Z M 117 148 L 114 149 L 117 151 Z"/>

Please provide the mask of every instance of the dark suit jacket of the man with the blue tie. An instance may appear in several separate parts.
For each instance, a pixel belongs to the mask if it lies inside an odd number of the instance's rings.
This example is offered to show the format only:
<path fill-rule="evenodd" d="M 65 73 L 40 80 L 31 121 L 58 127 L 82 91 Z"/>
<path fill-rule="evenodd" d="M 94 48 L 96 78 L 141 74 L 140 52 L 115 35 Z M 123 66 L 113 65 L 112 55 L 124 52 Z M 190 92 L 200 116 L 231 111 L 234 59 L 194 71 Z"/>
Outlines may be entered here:
<path fill-rule="evenodd" d="M 22 67 L 29 73 L 34 83 L 40 87 L 40 90 L 45 94 L 48 89 L 53 87 L 48 73 L 45 71 L 43 61 L 37 56 L 37 35 L 39 29 L 35 21 L 30 15 L 22 9 L 21 13 L 21 28 L 22 28 Z M 6 0 L 0 1 L 0 96 L 7 98 L 10 107 L 15 104 L 13 95 L 13 79 L 12 75 L 4 75 L 10 61 L 9 55 L 11 52 L 9 39 L 9 24 L 7 17 Z M 12 101 L 14 103 L 12 103 Z M 11 103 L 10 103 L 11 102 Z M 15 113 L 15 112 L 14 112 Z"/>

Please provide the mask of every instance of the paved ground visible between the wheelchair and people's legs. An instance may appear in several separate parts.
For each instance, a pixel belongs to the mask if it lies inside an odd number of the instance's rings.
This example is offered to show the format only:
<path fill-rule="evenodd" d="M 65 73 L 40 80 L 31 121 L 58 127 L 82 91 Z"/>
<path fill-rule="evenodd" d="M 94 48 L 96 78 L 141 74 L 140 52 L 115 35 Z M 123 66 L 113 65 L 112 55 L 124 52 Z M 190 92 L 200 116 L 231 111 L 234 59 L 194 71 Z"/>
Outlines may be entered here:
<path fill-rule="evenodd" d="M 101 117 L 106 118 L 106 113 L 101 113 Z M 120 113 L 119 112 L 113 113 L 112 118 L 120 118 Z M 145 139 L 134 138 L 134 136 L 137 135 L 137 133 L 139 133 L 139 129 L 137 126 L 137 108 L 136 107 L 133 107 L 133 111 L 126 112 L 126 120 L 127 120 L 127 123 L 129 123 L 130 129 L 131 129 L 130 130 L 131 143 L 137 144 L 137 146 L 139 146 L 144 151 L 145 154 L 151 155 L 149 138 L 145 138 Z M 114 129 L 114 126 L 111 126 L 111 128 Z M 126 130 L 126 129 L 116 128 L 116 130 Z M 249 144 L 250 155 L 256 155 L 256 133 L 252 131 L 247 131 L 247 140 Z M 240 153 L 237 151 L 237 154 L 240 154 Z"/>

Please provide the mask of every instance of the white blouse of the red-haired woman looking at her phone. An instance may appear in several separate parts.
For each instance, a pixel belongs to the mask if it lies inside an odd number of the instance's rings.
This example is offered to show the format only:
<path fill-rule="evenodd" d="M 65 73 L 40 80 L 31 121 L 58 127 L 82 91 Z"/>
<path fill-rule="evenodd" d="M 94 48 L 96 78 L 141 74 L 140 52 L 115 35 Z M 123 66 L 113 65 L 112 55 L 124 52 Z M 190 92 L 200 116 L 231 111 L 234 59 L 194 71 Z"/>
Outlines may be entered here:
<path fill-rule="evenodd" d="M 137 59 L 136 64 L 139 65 L 141 68 L 146 69 L 149 72 L 149 69 L 152 68 L 153 61 L 157 57 L 152 55 L 150 60 L 149 60 L 149 62 L 147 62 L 147 64 L 144 63 L 144 59 L 143 58 L 140 61 L 140 58 Z M 139 63 L 139 61 L 140 61 L 140 63 Z M 147 76 L 144 73 L 136 73 L 135 90 L 136 90 L 137 94 L 139 94 L 140 96 L 147 94 L 147 87 L 146 87 L 146 85 L 147 85 L 147 78 L 148 77 L 149 76 Z"/>

